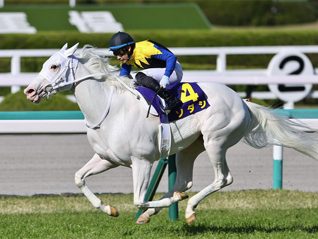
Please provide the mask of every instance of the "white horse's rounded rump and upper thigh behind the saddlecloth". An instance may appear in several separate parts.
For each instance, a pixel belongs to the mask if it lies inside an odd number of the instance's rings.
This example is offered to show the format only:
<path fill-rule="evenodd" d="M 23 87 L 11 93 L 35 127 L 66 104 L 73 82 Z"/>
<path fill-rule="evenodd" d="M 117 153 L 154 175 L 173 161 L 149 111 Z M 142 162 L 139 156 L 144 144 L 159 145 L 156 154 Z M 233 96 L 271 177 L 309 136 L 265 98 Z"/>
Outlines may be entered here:
<path fill-rule="evenodd" d="M 239 142 L 249 128 L 250 115 L 239 95 L 229 87 L 214 83 L 199 83 L 210 107 L 200 120 L 205 143 L 218 142 L 229 148 Z"/>

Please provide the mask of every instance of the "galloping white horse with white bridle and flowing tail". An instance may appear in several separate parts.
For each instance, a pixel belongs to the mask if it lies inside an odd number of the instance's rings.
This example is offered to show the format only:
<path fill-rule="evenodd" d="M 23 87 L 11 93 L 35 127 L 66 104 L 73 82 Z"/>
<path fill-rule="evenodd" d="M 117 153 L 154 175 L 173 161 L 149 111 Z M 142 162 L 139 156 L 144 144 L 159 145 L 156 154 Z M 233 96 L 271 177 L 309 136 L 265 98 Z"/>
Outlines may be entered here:
<path fill-rule="evenodd" d="M 117 210 L 104 205 L 88 189 L 85 178 L 120 165 L 133 170 L 134 205 L 148 209 L 137 220 L 138 224 L 143 224 L 162 207 L 187 198 L 182 192 L 192 186 L 194 160 L 207 150 L 215 180 L 188 200 L 185 218 L 191 225 L 196 219 L 194 209 L 200 201 L 233 182 L 226 152 L 239 140 L 256 148 L 291 147 L 318 159 L 316 133 L 304 132 L 298 127 L 303 125 L 242 100 L 223 84 L 202 82 L 199 86 L 210 107 L 170 122 L 170 154 L 176 154 L 175 185 L 160 200 L 144 201 L 152 165 L 160 158 L 159 118 L 146 118 L 147 111 L 136 98 L 132 81 L 126 77 L 117 78 L 114 75 L 117 68 L 110 66 L 107 58 L 89 45 L 76 57 L 73 54 L 77 47 L 78 44 L 67 49 L 66 44 L 51 56 L 24 93 L 32 103 L 39 103 L 42 98 L 60 91 L 74 93 L 85 117 L 88 141 L 95 151 L 75 174 L 75 183 L 95 208 L 110 216 L 117 217 Z"/>

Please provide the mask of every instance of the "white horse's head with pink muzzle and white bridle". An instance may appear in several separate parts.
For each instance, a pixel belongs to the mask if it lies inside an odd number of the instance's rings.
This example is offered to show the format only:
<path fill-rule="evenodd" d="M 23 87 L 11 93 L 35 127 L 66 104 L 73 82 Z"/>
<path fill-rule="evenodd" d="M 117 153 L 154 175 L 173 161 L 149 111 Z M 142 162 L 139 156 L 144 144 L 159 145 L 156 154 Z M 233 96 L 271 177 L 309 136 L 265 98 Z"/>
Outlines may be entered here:
<path fill-rule="evenodd" d="M 78 60 L 73 54 L 78 46 L 79 43 L 67 49 L 68 44 L 66 43 L 60 51 L 43 64 L 38 76 L 24 90 L 29 101 L 40 103 L 43 97 L 72 88 L 78 65 Z"/>

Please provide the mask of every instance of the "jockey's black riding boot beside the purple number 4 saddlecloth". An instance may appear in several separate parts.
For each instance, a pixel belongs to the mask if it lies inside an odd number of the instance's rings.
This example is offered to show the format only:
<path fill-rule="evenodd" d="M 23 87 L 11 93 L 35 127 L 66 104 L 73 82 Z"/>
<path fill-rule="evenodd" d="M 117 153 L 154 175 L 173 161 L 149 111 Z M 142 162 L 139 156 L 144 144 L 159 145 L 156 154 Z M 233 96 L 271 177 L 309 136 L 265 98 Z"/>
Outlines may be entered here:
<path fill-rule="evenodd" d="M 165 100 L 166 106 L 163 109 L 163 113 L 169 114 L 173 108 L 182 105 L 179 98 L 173 96 L 169 90 L 160 87 L 159 83 L 154 78 L 147 76 L 143 72 L 138 72 L 135 78 L 140 85 L 157 92 L 159 97 Z"/>

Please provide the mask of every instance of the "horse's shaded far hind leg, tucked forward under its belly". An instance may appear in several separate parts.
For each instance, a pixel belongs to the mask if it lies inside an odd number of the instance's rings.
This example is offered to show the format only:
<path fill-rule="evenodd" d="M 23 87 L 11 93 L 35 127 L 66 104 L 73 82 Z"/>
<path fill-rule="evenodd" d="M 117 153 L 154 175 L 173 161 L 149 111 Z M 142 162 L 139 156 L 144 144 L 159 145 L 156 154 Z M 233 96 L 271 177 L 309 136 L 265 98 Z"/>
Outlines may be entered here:
<path fill-rule="evenodd" d="M 193 144 L 176 154 L 176 180 L 173 188 L 160 198 L 170 198 L 175 191 L 185 192 L 192 187 L 193 164 L 197 156 L 205 150 L 200 136 Z M 159 213 L 162 208 L 147 209 L 136 221 L 137 224 L 150 222 L 150 217 Z"/>

